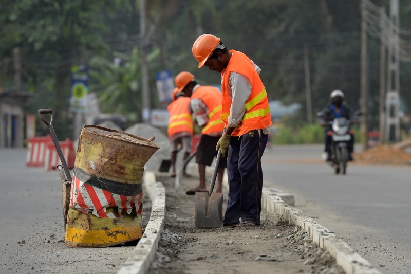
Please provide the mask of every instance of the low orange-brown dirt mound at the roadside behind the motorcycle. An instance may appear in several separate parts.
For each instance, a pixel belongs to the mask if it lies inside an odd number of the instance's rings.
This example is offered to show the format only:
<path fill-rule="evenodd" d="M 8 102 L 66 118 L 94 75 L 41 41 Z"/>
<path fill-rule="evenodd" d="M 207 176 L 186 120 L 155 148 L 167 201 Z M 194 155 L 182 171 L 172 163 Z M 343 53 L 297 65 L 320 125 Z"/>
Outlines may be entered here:
<path fill-rule="evenodd" d="M 354 163 L 411 165 L 411 153 L 396 145 L 381 144 L 362 153 L 354 153 Z"/>

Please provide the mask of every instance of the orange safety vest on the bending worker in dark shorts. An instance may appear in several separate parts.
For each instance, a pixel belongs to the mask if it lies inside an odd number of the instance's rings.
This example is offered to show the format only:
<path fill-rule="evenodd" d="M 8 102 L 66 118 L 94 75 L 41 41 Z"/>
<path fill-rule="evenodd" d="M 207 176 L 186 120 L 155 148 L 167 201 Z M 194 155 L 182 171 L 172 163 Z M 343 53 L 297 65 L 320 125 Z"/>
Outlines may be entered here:
<path fill-rule="evenodd" d="M 224 122 L 221 120 L 222 94 L 220 90 L 212 86 L 199 86 L 194 90 L 191 98 L 201 99 L 208 109 L 209 121 L 201 130 L 201 134 L 222 132 Z"/>

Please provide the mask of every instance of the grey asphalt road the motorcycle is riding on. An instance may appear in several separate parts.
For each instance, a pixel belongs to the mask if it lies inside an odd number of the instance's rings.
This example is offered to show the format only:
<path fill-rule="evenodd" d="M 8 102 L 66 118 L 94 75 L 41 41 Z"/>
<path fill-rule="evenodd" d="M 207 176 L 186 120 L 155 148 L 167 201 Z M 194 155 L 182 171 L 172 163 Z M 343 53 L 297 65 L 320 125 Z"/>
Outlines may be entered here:
<path fill-rule="evenodd" d="M 352 163 L 335 175 L 322 145 L 278 145 L 263 155 L 264 186 L 293 194 L 295 207 L 383 273 L 411 273 L 411 169 Z M 358 151 L 358 150 L 357 150 Z"/>

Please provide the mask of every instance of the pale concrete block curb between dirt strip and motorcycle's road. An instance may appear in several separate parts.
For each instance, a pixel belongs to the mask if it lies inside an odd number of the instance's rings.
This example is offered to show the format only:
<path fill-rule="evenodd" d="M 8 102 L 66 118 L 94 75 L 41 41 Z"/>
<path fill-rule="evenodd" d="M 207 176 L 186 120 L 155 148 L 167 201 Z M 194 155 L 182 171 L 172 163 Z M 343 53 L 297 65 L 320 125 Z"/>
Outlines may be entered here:
<path fill-rule="evenodd" d="M 311 240 L 322 249 L 328 251 L 337 260 L 347 274 L 381 274 L 380 271 L 354 252 L 348 244 L 339 239 L 333 232 L 317 224 L 303 211 L 289 206 L 278 195 L 278 190 L 263 187 L 261 207 L 269 214 L 277 214 L 289 223 L 300 226 L 308 233 Z"/>

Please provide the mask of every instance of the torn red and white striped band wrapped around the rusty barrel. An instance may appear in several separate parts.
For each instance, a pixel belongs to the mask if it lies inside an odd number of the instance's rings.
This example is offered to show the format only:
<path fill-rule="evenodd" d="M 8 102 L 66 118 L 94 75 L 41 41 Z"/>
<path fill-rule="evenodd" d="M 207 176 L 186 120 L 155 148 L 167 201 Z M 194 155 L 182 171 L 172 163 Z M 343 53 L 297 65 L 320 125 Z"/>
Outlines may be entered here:
<path fill-rule="evenodd" d="M 91 213 L 100 218 L 119 218 L 122 216 L 122 210 L 131 214 L 136 206 L 137 214 L 141 214 L 142 199 L 143 193 L 133 196 L 114 194 L 104 189 L 84 184 L 76 176 L 73 176 L 71 182 L 70 208 L 78 209 L 83 213 L 92 210 Z M 108 207 L 118 207 L 118 210 L 117 212 L 106 212 Z"/>

